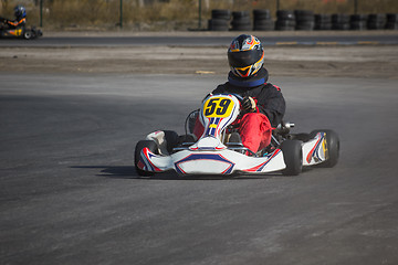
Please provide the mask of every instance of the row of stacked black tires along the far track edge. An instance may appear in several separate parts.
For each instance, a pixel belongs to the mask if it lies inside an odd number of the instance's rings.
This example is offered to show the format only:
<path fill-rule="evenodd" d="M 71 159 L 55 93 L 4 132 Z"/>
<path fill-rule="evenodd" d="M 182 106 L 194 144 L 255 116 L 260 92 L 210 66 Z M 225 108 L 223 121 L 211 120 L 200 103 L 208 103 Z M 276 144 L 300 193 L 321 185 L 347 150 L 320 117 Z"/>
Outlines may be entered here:
<path fill-rule="evenodd" d="M 232 20 L 231 20 L 232 18 Z M 314 14 L 311 10 L 277 10 L 276 22 L 270 10 L 253 10 L 253 26 L 249 11 L 214 9 L 209 31 L 312 31 L 312 30 L 398 30 L 398 13 L 387 14 Z"/>

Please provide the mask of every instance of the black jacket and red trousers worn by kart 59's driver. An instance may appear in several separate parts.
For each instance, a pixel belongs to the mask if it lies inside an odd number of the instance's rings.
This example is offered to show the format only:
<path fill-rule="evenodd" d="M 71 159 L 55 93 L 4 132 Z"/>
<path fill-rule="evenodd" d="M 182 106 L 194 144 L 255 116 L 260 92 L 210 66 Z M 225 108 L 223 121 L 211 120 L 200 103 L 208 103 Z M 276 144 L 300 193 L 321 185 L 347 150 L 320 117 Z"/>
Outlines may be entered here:
<path fill-rule="evenodd" d="M 250 78 L 239 78 L 232 73 L 229 81 L 219 85 L 212 94 L 233 93 L 242 97 L 250 96 L 256 103 L 255 112 L 247 113 L 238 118 L 233 125 L 238 127 L 242 144 L 256 152 L 270 145 L 272 129 L 282 121 L 285 113 L 285 100 L 277 86 L 266 83 L 268 71 L 261 68 Z M 197 121 L 193 134 L 199 138 L 203 126 Z"/>

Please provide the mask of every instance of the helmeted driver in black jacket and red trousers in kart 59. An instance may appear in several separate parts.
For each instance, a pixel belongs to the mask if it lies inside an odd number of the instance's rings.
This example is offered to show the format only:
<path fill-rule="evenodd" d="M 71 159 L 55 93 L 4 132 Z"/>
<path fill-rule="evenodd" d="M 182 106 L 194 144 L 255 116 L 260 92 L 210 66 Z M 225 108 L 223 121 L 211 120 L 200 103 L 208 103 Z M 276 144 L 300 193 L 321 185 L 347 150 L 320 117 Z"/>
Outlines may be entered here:
<path fill-rule="evenodd" d="M 212 94 L 233 93 L 243 97 L 243 116 L 233 125 L 238 127 L 243 146 L 256 152 L 271 144 L 272 129 L 285 113 L 285 100 L 280 87 L 268 83 L 264 51 L 259 39 L 245 34 L 235 38 L 228 49 L 228 62 L 231 68 L 228 82 Z M 197 120 L 193 134 L 199 138 L 203 129 Z"/>

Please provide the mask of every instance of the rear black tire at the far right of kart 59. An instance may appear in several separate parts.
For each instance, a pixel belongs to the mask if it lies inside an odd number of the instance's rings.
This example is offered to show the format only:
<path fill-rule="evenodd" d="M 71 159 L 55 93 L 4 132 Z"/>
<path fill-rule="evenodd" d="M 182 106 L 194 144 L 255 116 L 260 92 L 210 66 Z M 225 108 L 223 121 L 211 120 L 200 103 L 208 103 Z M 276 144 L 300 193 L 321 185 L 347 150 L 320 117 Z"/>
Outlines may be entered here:
<path fill-rule="evenodd" d="M 320 163 L 322 168 L 333 168 L 338 162 L 339 157 L 339 139 L 338 135 L 334 130 L 323 129 L 311 131 L 311 138 L 314 138 L 317 132 L 326 132 L 326 148 L 327 148 L 327 160 Z"/>

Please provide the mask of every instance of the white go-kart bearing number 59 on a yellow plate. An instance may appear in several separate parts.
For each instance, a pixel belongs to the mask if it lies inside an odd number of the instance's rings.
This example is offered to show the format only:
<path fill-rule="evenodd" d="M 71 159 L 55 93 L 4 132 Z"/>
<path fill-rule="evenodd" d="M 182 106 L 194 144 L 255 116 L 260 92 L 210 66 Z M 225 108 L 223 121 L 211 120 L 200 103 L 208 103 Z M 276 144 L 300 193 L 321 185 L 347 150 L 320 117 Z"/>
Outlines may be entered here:
<path fill-rule="evenodd" d="M 234 94 L 209 95 L 201 108 L 186 119 L 186 134 L 157 130 L 139 140 L 135 148 L 135 168 L 139 176 L 174 170 L 187 174 L 264 174 L 282 172 L 297 176 L 303 167 L 334 167 L 338 161 L 339 139 L 333 130 L 291 134 L 291 123 L 281 123 L 272 132 L 270 146 L 253 152 L 245 148 L 232 123 L 241 114 L 241 100 Z M 205 131 L 192 135 L 199 118 Z"/>

